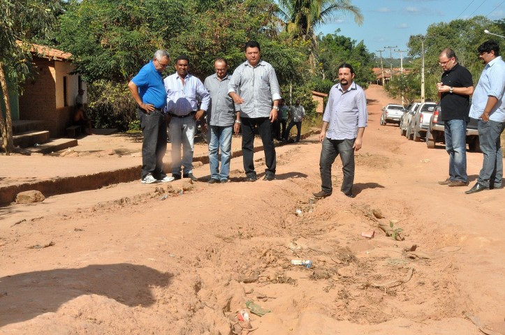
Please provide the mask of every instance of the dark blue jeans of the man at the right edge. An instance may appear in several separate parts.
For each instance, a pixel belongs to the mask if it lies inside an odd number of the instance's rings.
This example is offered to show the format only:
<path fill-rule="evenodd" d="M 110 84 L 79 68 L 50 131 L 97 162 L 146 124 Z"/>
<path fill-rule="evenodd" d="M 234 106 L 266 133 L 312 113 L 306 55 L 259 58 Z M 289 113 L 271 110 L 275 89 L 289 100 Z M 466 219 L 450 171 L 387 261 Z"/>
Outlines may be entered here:
<path fill-rule="evenodd" d="M 481 173 L 478 174 L 478 184 L 490 188 L 502 187 L 503 154 L 500 134 L 503 133 L 505 122 L 478 120 L 478 140 L 484 155 Z"/>

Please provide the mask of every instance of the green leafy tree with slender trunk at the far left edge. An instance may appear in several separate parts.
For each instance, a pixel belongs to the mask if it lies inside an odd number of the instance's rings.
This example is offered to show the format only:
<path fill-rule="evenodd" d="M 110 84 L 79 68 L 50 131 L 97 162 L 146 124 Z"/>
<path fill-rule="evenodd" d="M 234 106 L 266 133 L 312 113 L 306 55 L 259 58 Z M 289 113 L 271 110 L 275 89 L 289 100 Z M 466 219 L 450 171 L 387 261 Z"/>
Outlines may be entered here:
<path fill-rule="evenodd" d="M 60 12 L 59 1 L 0 1 L 0 84 L 6 111 L 5 119 L 0 113 L 0 131 L 6 154 L 14 151 L 7 81 L 19 89 L 31 69 L 29 42 L 36 36 L 50 34 Z"/>

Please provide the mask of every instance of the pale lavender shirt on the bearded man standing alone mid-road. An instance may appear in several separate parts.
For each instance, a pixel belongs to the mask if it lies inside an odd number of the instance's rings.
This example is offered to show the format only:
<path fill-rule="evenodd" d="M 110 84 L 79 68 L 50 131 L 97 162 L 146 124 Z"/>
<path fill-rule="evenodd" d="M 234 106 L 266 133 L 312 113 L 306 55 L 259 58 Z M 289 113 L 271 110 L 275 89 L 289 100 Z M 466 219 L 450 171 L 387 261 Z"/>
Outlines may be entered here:
<path fill-rule="evenodd" d="M 342 91 L 336 84 L 330 89 L 323 121 L 328 122 L 326 137 L 330 140 L 352 140 L 358 137 L 358 128 L 365 128 L 368 121 L 365 91 L 353 82 Z"/>

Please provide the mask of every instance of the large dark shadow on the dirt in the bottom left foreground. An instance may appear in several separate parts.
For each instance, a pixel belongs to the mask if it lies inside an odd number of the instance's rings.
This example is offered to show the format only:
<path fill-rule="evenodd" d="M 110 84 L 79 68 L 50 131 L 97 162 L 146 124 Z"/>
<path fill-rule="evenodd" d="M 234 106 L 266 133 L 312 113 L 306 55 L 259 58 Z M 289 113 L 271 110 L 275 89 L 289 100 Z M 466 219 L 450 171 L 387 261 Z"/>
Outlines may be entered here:
<path fill-rule="evenodd" d="M 0 327 L 56 312 L 81 295 L 102 295 L 127 306 L 155 303 L 152 286 L 166 287 L 173 274 L 127 263 L 80 269 L 33 271 L 0 278 Z"/>

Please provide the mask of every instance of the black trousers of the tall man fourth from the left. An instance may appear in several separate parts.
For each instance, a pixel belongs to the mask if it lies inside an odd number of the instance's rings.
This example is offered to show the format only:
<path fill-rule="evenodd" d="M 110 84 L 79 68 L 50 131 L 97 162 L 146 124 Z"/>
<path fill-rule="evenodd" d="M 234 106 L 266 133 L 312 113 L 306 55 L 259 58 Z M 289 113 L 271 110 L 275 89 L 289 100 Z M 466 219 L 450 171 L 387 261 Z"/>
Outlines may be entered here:
<path fill-rule="evenodd" d="M 254 171 L 254 129 L 258 127 L 258 132 L 263 142 L 265 151 L 265 174 L 274 174 L 277 166 L 275 158 L 275 145 L 272 138 L 272 123 L 268 117 L 240 117 L 242 121 L 242 158 L 244 159 L 244 170 L 247 176 L 256 176 Z"/>

